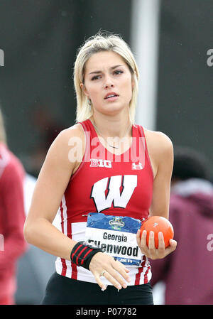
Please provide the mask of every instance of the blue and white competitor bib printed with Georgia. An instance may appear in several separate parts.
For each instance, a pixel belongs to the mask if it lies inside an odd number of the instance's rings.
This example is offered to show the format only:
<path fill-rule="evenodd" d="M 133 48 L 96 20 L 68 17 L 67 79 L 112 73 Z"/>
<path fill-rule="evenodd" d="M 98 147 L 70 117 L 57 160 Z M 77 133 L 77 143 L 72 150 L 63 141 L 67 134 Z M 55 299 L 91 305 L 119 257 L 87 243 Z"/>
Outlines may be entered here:
<path fill-rule="evenodd" d="M 136 232 L 141 220 L 132 217 L 104 215 L 90 212 L 87 218 L 85 242 L 99 247 L 122 264 L 140 266 L 141 249 L 136 242 Z"/>

